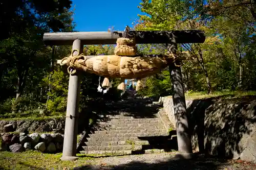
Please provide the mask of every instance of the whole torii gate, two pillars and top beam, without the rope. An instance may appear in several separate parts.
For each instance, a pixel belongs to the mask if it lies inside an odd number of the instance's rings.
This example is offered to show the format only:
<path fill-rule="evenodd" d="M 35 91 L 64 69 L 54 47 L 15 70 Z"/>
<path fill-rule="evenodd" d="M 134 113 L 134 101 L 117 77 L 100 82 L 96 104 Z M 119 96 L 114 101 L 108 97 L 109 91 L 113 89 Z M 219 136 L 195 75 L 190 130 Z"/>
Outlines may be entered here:
<path fill-rule="evenodd" d="M 203 31 L 116 31 L 116 32 L 72 32 L 72 33 L 45 33 L 44 41 L 46 45 L 71 45 L 73 50 L 79 50 L 83 45 L 89 44 L 115 44 L 118 37 L 135 38 L 137 44 L 165 43 L 168 51 L 174 56 L 177 54 L 177 43 L 203 43 L 205 34 Z M 75 54 L 76 53 L 76 54 Z M 74 55 L 78 51 L 74 52 Z M 90 56 L 89 56 L 90 57 Z M 93 57 L 93 56 L 92 56 Z M 94 56 L 95 57 L 95 56 Z M 182 85 L 182 75 L 180 61 L 175 61 L 169 65 L 169 71 L 173 88 L 173 103 L 176 118 L 176 131 L 178 140 L 179 155 L 183 158 L 191 158 L 193 151 L 191 148 L 191 138 L 188 131 L 188 119 L 186 115 L 186 103 L 184 89 Z M 78 131 L 78 105 L 80 92 L 79 74 L 70 75 L 68 103 L 66 113 L 66 124 L 64 143 L 61 160 L 75 160 L 77 131 Z"/>

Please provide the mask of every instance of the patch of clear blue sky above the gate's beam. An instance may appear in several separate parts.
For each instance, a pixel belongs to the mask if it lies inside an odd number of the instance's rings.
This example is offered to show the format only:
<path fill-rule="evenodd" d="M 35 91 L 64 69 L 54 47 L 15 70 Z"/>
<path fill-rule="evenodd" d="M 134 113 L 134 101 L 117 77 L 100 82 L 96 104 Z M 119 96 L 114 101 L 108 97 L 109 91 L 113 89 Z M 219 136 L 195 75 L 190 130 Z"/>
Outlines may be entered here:
<path fill-rule="evenodd" d="M 75 30 L 108 31 L 114 27 L 114 30 L 123 31 L 126 25 L 132 27 L 132 22 L 139 19 L 138 14 L 143 14 L 139 3 L 141 0 L 73 0 Z"/>

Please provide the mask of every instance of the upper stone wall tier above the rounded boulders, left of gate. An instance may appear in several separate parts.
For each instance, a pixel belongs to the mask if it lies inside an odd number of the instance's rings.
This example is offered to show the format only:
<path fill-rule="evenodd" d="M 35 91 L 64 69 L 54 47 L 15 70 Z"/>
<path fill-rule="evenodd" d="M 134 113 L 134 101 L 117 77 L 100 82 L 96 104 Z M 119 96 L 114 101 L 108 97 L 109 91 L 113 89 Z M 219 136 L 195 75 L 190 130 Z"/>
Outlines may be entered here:
<path fill-rule="evenodd" d="M 6 131 L 6 127 L 8 127 L 9 130 Z M 0 120 L 0 132 L 55 132 L 63 134 L 64 128 L 64 118 L 46 118 L 40 120 Z"/>

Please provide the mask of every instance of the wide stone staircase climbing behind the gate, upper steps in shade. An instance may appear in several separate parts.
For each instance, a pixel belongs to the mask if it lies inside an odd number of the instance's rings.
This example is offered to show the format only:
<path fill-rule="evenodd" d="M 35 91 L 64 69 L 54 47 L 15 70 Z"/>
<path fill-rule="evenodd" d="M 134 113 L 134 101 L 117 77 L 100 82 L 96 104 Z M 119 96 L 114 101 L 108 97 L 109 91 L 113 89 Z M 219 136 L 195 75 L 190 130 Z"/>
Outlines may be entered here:
<path fill-rule="evenodd" d="M 110 103 L 115 114 L 100 115 L 97 130 L 89 134 L 82 154 L 141 154 L 164 152 L 170 144 L 167 129 L 158 115 L 159 105 L 148 99 Z"/>

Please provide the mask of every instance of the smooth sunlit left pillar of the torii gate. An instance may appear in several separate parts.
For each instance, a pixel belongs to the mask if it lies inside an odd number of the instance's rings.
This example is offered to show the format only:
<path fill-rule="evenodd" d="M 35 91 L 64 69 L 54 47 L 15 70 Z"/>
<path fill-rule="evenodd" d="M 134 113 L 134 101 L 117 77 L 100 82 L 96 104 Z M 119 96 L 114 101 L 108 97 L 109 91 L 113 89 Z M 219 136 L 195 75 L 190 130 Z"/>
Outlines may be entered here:
<path fill-rule="evenodd" d="M 73 42 L 73 50 L 81 51 L 81 40 L 76 39 Z M 78 52 L 74 51 L 73 55 L 77 55 Z M 77 71 L 78 72 L 78 71 Z M 79 73 L 78 73 L 79 74 Z M 75 160 L 76 157 L 76 144 L 78 133 L 78 107 L 80 100 L 80 83 L 81 77 L 78 75 L 70 75 L 69 77 L 69 92 L 68 103 L 64 133 L 64 143 L 61 160 Z"/>

